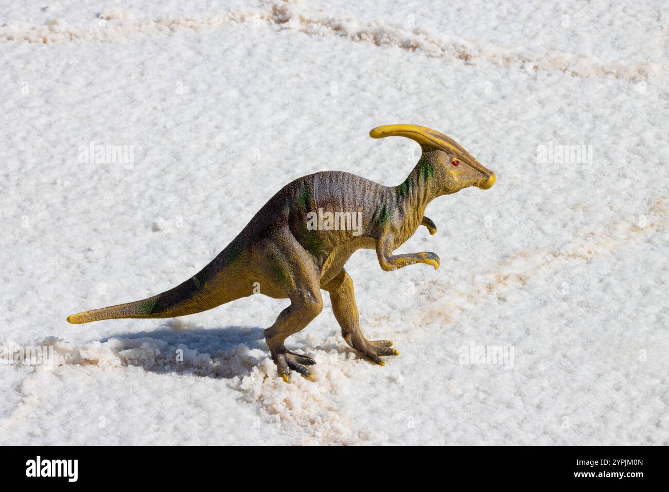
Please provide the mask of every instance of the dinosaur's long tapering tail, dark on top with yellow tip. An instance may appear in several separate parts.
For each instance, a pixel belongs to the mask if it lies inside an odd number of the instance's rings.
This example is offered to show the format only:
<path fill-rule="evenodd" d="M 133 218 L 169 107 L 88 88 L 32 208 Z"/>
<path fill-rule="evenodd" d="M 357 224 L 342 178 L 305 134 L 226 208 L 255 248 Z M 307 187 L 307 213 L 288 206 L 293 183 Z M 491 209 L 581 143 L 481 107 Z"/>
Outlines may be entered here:
<path fill-rule="evenodd" d="M 229 244 L 201 272 L 162 294 L 141 301 L 77 313 L 68 316 L 68 322 L 80 324 L 102 319 L 172 318 L 201 313 L 248 296 L 252 290 L 245 289 L 240 284 L 240 272 L 236 268 L 238 263 L 230 264 L 231 259 L 239 256 L 239 249 L 235 242 Z"/>

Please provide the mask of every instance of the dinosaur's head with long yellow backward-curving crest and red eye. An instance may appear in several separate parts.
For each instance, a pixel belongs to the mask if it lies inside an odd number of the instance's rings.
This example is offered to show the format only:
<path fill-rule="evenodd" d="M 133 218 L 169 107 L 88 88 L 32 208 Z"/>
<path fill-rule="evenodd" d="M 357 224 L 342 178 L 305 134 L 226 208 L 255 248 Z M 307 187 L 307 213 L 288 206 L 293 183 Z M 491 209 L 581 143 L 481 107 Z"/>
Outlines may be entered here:
<path fill-rule="evenodd" d="M 488 189 L 495 183 L 495 173 L 483 167 L 462 145 L 443 133 L 416 125 L 383 125 L 369 132 L 373 139 L 396 135 L 420 144 L 421 163 L 430 166 L 439 181 L 439 194 L 455 193 L 476 186 Z"/>

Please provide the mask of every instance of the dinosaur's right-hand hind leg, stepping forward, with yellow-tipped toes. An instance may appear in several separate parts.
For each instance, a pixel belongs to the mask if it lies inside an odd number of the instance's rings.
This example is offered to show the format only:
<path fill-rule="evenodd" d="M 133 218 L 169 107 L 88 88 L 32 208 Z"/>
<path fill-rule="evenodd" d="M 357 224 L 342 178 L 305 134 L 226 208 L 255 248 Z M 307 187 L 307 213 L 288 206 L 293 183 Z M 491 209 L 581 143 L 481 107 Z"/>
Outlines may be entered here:
<path fill-rule="evenodd" d="M 360 331 L 360 318 L 358 306 L 355 303 L 355 293 L 353 291 L 353 279 L 349 274 L 341 269 L 341 272 L 330 282 L 323 286 L 323 289 L 330 293 L 332 301 L 332 311 L 334 317 L 341 327 L 341 335 L 346 343 L 357 350 L 363 357 L 371 361 L 384 365 L 379 356 L 399 355 L 399 351 L 391 349 L 393 342 L 390 340 L 368 340 Z"/>

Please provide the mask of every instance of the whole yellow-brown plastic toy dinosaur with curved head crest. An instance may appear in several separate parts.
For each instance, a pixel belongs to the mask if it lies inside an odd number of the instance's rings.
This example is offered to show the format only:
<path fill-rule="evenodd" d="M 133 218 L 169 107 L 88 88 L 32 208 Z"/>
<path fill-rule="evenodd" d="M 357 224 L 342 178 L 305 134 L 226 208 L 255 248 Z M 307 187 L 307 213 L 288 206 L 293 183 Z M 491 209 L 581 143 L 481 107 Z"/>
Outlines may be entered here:
<path fill-rule="evenodd" d="M 371 341 L 360 331 L 353 280 L 344 269 L 360 248 L 375 249 L 385 271 L 425 263 L 439 268 L 432 252 L 393 254 L 418 226 L 435 234 L 423 215 L 435 197 L 476 186 L 488 189 L 495 175 L 461 145 L 434 130 L 415 125 L 385 125 L 369 132 L 375 139 L 399 135 L 420 144 L 422 155 L 409 177 L 384 186 L 341 171 L 321 171 L 284 186 L 205 268 L 174 289 L 142 301 L 68 317 L 70 323 L 116 318 L 168 318 L 200 313 L 260 292 L 290 299 L 274 325 L 264 331 L 278 374 L 289 370 L 313 378 L 311 357 L 288 351 L 284 341 L 297 333 L 330 293 L 341 333 L 353 349 L 384 365 L 380 357 L 399 355 L 392 341 Z"/>

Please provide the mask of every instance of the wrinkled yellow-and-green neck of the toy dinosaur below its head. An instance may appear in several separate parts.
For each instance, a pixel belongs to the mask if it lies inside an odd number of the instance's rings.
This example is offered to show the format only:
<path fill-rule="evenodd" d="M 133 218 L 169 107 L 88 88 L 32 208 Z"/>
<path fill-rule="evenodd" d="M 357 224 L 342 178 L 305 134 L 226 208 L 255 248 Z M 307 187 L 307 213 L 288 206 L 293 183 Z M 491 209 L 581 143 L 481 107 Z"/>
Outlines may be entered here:
<path fill-rule="evenodd" d="M 400 185 L 395 186 L 397 203 L 405 218 L 405 227 L 411 233 L 423 220 L 427 203 L 439 195 L 436 166 L 428 159 L 418 161 L 413 171 Z"/>

